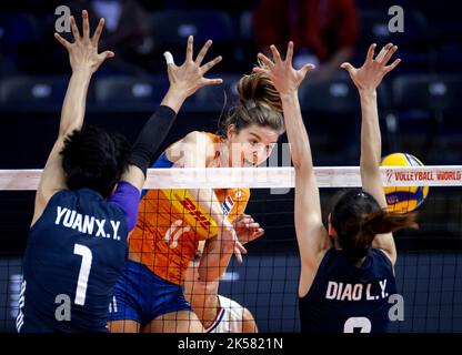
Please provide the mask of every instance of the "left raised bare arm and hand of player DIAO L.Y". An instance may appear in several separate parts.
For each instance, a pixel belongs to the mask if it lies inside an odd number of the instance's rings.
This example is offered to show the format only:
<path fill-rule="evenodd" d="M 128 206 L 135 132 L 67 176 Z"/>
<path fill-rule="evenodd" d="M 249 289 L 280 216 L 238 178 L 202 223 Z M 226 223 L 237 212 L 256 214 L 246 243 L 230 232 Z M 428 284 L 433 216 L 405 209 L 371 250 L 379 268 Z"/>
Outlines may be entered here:
<path fill-rule="evenodd" d="M 254 68 L 268 75 L 279 91 L 291 144 L 292 162 L 295 169 L 295 232 L 302 264 L 302 280 L 307 272 L 318 270 L 322 252 L 329 246 L 325 227 L 322 224 L 319 189 L 314 176 L 310 141 L 300 111 L 298 89 L 307 72 L 314 68 L 305 64 L 300 70 L 292 67 L 293 43 L 290 42 L 285 60 L 281 59 L 274 45 L 271 45 L 273 60 L 263 54 L 259 59 L 267 69 Z M 304 287 L 303 287 L 304 288 Z"/>

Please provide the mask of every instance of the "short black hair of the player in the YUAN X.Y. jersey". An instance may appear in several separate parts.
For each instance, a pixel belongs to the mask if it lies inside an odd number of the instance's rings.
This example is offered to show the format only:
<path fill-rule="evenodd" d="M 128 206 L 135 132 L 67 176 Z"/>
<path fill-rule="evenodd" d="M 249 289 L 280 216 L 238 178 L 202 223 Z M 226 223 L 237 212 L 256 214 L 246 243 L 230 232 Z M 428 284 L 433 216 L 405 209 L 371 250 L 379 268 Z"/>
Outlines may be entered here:
<path fill-rule="evenodd" d="M 121 134 L 94 125 L 74 130 L 61 151 L 68 189 L 91 189 L 109 197 L 128 168 L 130 150 Z"/>

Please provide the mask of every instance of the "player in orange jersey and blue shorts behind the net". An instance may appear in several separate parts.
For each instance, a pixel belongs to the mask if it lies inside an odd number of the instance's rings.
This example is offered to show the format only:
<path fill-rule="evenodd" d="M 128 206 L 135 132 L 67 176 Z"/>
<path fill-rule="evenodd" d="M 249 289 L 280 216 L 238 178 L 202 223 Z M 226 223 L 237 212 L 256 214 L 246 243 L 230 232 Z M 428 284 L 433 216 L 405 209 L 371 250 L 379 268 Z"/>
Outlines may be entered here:
<path fill-rule="evenodd" d="M 208 47 L 210 42 L 195 61 L 203 59 Z M 192 62 L 192 43 L 187 57 Z M 219 135 L 191 132 L 167 149 L 153 168 L 254 166 L 264 162 L 284 132 L 279 94 L 271 81 L 258 73 L 241 78 L 238 90 L 240 104 L 221 122 Z M 249 196 L 249 189 L 148 191 L 130 236 L 129 261 L 114 288 L 111 332 L 203 332 L 184 300 L 185 271 L 200 240 L 207 239 L 198 268 L 203 282 L 219 280 L 233 252 L 241 257 L 244 248 L 235 242 L 235 221 Z M 190 213 L 197 220 L 191 220 Z M 218 236 L 198 220 L 218 225 Z M 259 225 L 249 225 L 240 231 L 239 240 L 262 233 Z"/>

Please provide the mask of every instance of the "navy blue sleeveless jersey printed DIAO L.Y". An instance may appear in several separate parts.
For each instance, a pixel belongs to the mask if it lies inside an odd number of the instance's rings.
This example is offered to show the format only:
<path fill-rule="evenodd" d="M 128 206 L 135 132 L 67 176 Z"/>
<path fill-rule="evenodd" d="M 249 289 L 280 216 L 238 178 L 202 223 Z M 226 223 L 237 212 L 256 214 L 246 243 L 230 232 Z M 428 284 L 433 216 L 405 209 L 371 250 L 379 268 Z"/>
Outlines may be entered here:
<path fill-rule="evenodd" d="M 383 333 L 389 324 L 389 297 L 396 293 L 393 266 L 371 248 L 362 266 L 342 251 L 329 250 L 308 294 L 299 298 L 302 332 Z"/>

